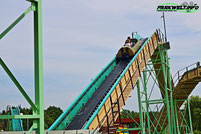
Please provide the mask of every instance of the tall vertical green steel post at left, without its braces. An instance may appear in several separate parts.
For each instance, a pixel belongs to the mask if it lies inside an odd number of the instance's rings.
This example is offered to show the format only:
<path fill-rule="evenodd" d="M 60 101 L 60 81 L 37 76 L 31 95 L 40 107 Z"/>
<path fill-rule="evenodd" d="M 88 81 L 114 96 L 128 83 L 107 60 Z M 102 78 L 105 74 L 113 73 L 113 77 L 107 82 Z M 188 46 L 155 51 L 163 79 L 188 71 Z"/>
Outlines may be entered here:
<path fill-rule="evenodd" d="M 43 39 L 42 39 L 42 0 L 32 1 L 34 11 L 34 78 L 35 78 L 35 104 L 39 120 L 34 120 L 37 126 L 36 134 L 44 134 L 44 98 L 43 98 Z"/>

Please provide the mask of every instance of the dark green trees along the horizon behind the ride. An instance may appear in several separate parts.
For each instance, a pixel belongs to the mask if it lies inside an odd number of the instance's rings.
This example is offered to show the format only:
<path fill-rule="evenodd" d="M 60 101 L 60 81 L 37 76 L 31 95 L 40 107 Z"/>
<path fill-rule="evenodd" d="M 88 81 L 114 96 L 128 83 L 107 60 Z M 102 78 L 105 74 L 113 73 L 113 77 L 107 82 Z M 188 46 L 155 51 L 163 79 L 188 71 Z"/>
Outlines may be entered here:
<path fill-rule="evenodd" d="M 185 108 L 188 109 L 187 103 L 185 103 Z M 184 112 L 184 109 L 181 110 L 181 112 Z M 194 134 L 200 134 L 201 133 L 201 98 L 199 96 L 191 96 L 190 97 L 190 110 L 191 110 L 191 118 L 192 118 L 192 124 L 193 124 L 193 130 Z M 24 115 L 31 115 L 32 109 L 31 108 L 20 108 L 20 112 Z M 45 111 L 45 129 L 49 128 L 52 123 L 63 113 L 61 108 L 50 106 Z M 6 115 L 6 111 L 3 110 L 0 112 L 0 115 Z M 152 118 L 152 114 L 157 113 L 150 113 L 150 118 Z M 186 121 L 189 123 L 189 116 L 188 116 L 188 110 L 187 114 L 185 116 Z M 121 118 L 139 118 L 139 113 L 130 111 L 130 110 L 123 110 L 121 112 Z M 6 120 L 0 120 L 0 128 L 6 127 Z M 24 130 L 28 130 L 33 124 L 32 120 L 24 119 L 23 120 L 23 128 Z M 136 124 L 133 124 L 136 126 Z M 133 126 L 133 127 L 134 127 Z M 7 127 L 6 127 L 7 128 Z M 5 129 L 4 129 L 5 130 Z"/>

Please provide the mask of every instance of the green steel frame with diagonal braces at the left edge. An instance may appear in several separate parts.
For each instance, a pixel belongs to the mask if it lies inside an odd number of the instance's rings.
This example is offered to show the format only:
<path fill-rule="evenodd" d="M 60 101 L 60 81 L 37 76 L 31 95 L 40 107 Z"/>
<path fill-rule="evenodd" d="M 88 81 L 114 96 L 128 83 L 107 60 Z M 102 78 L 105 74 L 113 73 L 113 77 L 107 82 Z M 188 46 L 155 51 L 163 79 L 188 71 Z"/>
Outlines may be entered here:
<path fill-rule="evenodd" d="M 32 107 L 33 115 L 1 115 L 0 119 L 33 119 L 33 126 L 30 128 L 28 133 L 34 130 L 36 131 L 36 134 L 44 134 L 42 0 L 27 1 L 31 3 L 31 6 L 0 34 L 0 39 L 2 39 L 12 28 L 14 28 L 17 23 L 19 23 L 30 11 L 33 11 L 35 103 L 31 100 L 1 58 L 0 65 Z"/>

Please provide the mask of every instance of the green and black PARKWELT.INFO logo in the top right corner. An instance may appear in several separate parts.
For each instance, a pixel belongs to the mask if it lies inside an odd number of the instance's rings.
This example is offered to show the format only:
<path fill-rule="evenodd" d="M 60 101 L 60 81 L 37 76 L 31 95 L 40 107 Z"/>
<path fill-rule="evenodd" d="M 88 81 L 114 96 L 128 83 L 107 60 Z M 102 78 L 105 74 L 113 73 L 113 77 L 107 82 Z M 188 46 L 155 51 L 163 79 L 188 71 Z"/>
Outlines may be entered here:
<path fill-rule="evenodd" d="M 182 4 L 177 3 L 163 3 L 160 4 L 156 11 L 159 12 L 182 12 L 182 13 L 194 13 L 197 12 L 199 6 L 193 2 L 183 2 Z"/>

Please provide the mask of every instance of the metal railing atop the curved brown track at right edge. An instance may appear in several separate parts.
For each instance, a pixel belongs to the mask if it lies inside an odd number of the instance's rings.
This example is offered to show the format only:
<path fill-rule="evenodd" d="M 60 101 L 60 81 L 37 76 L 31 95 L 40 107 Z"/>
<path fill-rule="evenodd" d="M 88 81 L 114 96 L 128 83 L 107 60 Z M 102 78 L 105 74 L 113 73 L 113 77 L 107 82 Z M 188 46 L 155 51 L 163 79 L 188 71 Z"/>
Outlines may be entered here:
<path fill-rule="evenodd" d="M 173 77 L 173 83 L 176 86 L 176 84 L 181 80 L 184 73 L 187 73 L 187 79 L 188 79 L 188 73 L 190 70 L 196 69 L 200 67 L 200 62 L 193 63 L 185 68 L 180 69 L 177 71 L 177 73 Z"/>

